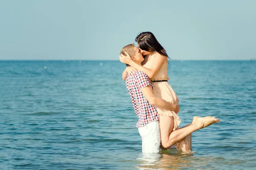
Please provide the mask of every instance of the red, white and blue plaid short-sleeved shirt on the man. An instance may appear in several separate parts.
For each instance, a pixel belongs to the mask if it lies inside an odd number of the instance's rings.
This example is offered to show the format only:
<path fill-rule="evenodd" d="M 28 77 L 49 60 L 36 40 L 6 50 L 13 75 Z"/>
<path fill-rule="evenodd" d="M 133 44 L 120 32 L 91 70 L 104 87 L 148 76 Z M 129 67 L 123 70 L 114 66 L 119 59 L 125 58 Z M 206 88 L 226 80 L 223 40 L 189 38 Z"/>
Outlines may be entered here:
<path fill-rule="evenodd" d="M 158 121 L 157 108 L 150 105 L 148 100 L 142 94 L 141 89 L 152 84 L 148 76 L 142 71 L 137 71 L 133 76 L 126 78 L 126 88 L 131 96 L 131 102 L 134 111 L 139 118 L 136 127 L 143 127 L 152 121 Z"/>

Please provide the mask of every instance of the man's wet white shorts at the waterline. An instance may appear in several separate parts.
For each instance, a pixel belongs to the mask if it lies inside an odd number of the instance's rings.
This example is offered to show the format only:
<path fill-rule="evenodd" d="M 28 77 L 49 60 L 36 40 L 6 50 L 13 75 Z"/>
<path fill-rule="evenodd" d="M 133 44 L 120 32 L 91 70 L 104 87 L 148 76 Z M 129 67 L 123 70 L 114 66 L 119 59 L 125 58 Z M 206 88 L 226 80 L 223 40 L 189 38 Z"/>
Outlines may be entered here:
<path fill-rule="evenodd" d="M 159 122 L 150 122 L 143 127 L 139 127 L 138 130 L 142 138 L 142 152 L 158 153 L 161 142 Z"/>

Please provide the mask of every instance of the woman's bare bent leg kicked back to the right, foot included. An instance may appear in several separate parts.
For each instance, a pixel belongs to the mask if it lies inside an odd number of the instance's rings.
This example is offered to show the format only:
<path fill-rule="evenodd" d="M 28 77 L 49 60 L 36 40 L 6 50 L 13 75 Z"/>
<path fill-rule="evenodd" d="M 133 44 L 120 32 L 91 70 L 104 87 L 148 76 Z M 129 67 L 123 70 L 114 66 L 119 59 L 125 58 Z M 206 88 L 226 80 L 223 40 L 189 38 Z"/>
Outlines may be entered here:
<path fill-rule="evenodd" d="M 159 126 L 160 126 L 160 134 L 161 134 L 161 145 L 163 148 L 168 149 L 172 145 L 174 145 L 176 142 L 179 142 L 192 132 L 195 132 L 196 130 L 199 130 L 201 128 L 207 127 L 209 125 L 212 125 L 213 123 L 219 122 L 219 119 L 216 119 L 215 117 L 197 117 L 195 116 L 193 118 L 192 123 L 189 125 L 186 125 L 186 127 L 177 129 L 171 134 L 169 133 L 169 136 L 167 136 L 167 128 L 170 127 L 171 121 L 170 119 L 173 119 L 172 116 L 168 116 L 169 119 L 166 119 L 166 116 L 160 115 L 160 120 L 159 120 Z M 172 117 L 172 118 L 170 118 Z M 162 118 L 162 119 L 161 119 Z M 174 121 L 172 121 L 174 122 Z M 167 126 L 168 125 L 168 126 Z M 173 125 L 173 124 L 172 124 Z M 162 130 L 161 130 L 162 128 Z M 162 131 L 162 132 L 161 132 Z M 162 139 L 163 137 L 163 139 Z"/>

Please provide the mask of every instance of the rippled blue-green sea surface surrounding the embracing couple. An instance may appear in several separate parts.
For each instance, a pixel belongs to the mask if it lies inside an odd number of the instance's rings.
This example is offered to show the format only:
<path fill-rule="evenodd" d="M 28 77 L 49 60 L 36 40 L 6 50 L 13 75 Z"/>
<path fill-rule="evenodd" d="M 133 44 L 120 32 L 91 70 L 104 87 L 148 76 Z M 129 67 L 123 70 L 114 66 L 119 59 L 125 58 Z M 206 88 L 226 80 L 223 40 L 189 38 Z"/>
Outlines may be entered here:
<path fill-rule="evenodd" d="M 119 61 L 0 61 L 0 169 L 256 169 L 256 61 L 172 61 L 193 154 L 143 155 Z"/>

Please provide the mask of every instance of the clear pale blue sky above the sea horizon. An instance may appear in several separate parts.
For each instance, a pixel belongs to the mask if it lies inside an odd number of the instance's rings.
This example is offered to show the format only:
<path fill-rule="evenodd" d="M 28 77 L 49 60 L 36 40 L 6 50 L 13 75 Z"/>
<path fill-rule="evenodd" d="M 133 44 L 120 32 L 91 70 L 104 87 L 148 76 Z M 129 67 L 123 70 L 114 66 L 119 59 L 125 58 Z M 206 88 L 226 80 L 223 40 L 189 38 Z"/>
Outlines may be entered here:
<path fill-rule="evenodd" d="M 256 58 L 256 0 L 0 0 L 0 60 L 118 60 L 141 31 L 172 59 Z"/>

